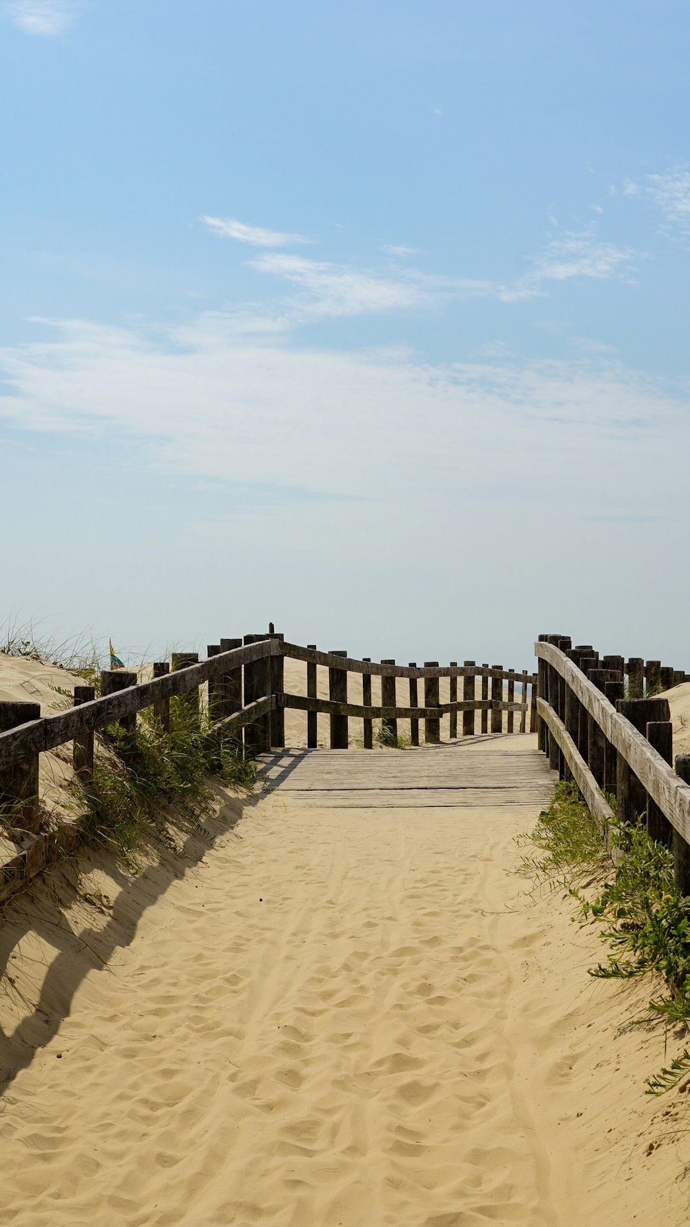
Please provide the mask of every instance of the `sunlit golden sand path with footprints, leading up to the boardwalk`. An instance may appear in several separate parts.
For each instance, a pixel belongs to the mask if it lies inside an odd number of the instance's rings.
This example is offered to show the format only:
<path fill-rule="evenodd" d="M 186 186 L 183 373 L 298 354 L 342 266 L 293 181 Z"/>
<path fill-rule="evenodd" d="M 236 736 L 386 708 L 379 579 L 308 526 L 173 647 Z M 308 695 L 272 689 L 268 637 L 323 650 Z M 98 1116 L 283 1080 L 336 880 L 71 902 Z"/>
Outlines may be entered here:
<path fill-rule="evenodd" d="M 2 1222 L 686 1222 L 679 1156 L 645 1158 L 658 1037 L 646 1056 L 638 1033 L 615 1038 L 640 996 L 588 980 L 593 934 L 506 876 L 537 809 L 263 799 L 11 1082 Z M 118 883 L 88 886 L 104 931 Z M 155 870 L 135 883 L 156 886 Z M 85 917 L 77 899 L 77 935 Z M 15 953 L 31 979 L 55 951 L 29 934 Z"/>

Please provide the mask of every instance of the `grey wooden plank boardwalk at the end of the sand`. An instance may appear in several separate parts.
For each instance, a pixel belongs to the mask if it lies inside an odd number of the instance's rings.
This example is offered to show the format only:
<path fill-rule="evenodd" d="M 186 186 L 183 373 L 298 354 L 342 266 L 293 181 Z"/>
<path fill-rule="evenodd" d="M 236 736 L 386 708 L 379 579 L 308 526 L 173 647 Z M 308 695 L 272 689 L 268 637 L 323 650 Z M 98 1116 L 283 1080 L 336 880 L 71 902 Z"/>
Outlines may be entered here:
<path fill-rule="evenodd" d="M 537 737 L 486 735 L 410 750 L 284 750 L 263 774 L 289 804 L 431 810 L 548 804 L 555 773 Z"/>

